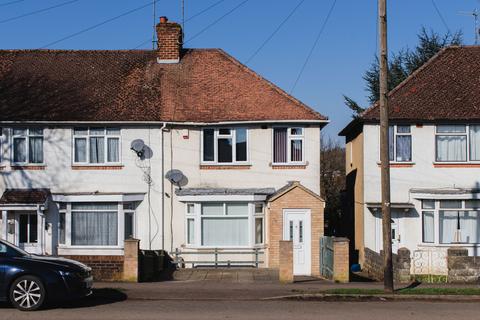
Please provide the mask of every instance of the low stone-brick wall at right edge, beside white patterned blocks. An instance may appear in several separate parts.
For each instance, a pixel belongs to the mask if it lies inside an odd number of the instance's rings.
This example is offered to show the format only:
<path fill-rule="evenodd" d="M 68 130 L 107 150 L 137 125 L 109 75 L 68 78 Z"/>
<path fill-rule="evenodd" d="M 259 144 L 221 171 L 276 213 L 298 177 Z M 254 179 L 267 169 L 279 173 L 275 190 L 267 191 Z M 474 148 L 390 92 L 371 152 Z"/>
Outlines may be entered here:
<path fill-rule="evenodd" d="M 479 283 L 480 257 L 469 257 L 467 249 L 448 249 L 448 282 Z"/>

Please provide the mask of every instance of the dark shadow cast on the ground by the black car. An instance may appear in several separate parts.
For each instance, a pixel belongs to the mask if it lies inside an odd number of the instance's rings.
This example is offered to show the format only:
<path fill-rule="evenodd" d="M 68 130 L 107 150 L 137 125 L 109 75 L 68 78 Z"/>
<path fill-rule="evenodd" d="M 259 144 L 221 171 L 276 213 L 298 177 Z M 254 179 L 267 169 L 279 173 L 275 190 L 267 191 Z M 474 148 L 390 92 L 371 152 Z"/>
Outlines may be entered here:
<path fill-rule="evenodd" d="M 93 289 L 93 293 L 88 297 L 71 301 L 51 303 L 45 306 L 43 310 L 89 308 L 99 305 L 112 304 L 125 300 L 127 300 L 127 295 L 121 290 L 112 288 Z M 13 307 L 6 302 L 0 303 L 0 309 L 6 308 Z"/>

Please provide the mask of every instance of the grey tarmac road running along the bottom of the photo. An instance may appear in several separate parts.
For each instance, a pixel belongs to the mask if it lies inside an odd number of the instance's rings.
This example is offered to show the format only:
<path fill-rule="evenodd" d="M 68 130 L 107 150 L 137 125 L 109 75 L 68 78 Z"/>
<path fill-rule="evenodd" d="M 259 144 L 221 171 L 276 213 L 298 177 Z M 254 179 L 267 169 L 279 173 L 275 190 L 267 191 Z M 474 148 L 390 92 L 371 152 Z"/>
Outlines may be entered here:
<path fill-rule="evenodd" d="M 37 312 L 0 306 L 2 320 L 81 319 L 478 319 L 478 303 L 314 301 L 89 301 Z"/>

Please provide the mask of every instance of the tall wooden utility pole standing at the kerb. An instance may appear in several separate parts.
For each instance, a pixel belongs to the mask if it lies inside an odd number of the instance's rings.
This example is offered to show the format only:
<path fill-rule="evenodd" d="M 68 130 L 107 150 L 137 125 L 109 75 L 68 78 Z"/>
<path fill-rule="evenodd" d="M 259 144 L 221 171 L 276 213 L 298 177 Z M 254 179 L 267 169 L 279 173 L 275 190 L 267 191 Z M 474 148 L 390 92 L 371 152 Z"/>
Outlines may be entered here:
<path fill-rule="evenodd" d="M 392 225 L 390 212 L 390 158 L 388 148 L 387 0 L 378 0 L 380 24 L 380 161 L 382 163 L 383 283 L 393 292 Z"/>

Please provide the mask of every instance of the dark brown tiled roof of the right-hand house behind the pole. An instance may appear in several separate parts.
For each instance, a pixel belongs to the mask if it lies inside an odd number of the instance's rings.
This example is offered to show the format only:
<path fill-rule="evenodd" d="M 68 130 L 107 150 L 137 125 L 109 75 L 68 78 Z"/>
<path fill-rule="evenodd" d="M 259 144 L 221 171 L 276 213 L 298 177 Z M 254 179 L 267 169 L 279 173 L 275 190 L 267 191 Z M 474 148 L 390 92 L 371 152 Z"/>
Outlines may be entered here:
<path fill-rule="evenodd" d="M 480 120 L 479 71 L 480 46 L 443 49 L 389 93 L 389 119 Z M 378 105 L 361 119 L 378 121 Z"/>

